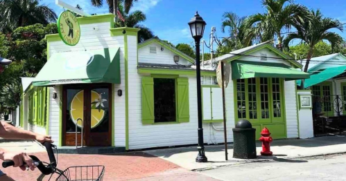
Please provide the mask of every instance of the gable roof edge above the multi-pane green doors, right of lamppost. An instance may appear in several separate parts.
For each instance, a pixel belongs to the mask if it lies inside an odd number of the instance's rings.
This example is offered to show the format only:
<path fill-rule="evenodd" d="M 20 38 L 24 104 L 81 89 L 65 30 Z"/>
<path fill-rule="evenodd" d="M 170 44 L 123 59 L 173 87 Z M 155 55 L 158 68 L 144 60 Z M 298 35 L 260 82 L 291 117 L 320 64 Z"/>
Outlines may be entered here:
<path fill-rule="evenodd" d="M 275 48 L 271 41 L 266 41 L 261 44 L 256 44 L 253 46 L 248 46 L 245 48 L 241 48 L 239 50 L 234 50 L 230 52 L 229 54 L 222 55 L 220 57 L 216 57 L 216 61 L 232 61 L 235 59 L 239 59 L 240 57 L 243 57 L 244 55 L 249 55 L 250 53 L 254 52 L 255 50 L 261 50 L 263 48 L 269 48 L 270 50 L 273 50 L 273 52 L 277 53 L 280 57 L 283 58 L 283 60 L 289 61 L 291 64 L 296 66 L 297 68 L 302 68 L 302 64 L 300 64 L 298 61 L 295 61 L 292 57 L 286 55 L 282 51 Z"/>

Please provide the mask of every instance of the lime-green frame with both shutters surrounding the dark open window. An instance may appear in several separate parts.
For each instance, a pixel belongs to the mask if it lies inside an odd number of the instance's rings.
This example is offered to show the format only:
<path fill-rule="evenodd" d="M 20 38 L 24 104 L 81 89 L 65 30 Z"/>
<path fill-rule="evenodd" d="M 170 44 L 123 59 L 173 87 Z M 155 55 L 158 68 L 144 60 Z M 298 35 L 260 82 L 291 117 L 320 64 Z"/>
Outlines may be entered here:
<path fill-rule="evenodd" d="M 154 78 L 175 79 L 176 122 L 155 122 Z M 190 121 L 189 79 L 177 75 L 141 77 L 141 122 L 144 125 L 179 124 Z"/>

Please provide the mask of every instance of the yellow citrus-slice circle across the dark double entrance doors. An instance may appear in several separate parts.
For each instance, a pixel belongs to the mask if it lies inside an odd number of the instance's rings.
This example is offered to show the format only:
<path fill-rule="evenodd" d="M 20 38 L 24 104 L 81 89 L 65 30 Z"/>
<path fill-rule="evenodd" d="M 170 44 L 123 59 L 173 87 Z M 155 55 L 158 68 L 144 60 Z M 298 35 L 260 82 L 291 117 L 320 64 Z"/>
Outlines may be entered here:
<path fill-rule="evenodd" d="M 100 99 L 100 95 L 98 93 L 96 93 L 94 90 L 92 90 L 92 102 L 98 102 L 100 101 L 102 103 L 103 99 Z M 99 100 L 100 99 L 100 100 Z M 105 111 L 102 109 L 103 104 L 97 104 L 97 107 L 92 104 L 90 105 L 92 107 L 91 111 L 92 111 L 92 125 L 91 128 L 96 128 L 98 126 L 98 124 L 100 124 L 103 120 L 103 118 L 105 117 Z M 101 106 L 101 108 L 99 109 L 99 106 Z M 76 93 L 76 95 L 74 95 L 72 101 L 71 101 L 71 120 L 73 121 L 74 124 L 77 124 L 77 126 L 79 128 L 82 127 L 82 121 L 84 121 L 83 117 L 84 117 L 84 90 L 80 90 L 78 93 Z M 81 120 L 80 120 L 81 119 Z M 77 122 L 78 120 L 78 122 Z M 77 123 L 76 123 L 77 122 Z"/>

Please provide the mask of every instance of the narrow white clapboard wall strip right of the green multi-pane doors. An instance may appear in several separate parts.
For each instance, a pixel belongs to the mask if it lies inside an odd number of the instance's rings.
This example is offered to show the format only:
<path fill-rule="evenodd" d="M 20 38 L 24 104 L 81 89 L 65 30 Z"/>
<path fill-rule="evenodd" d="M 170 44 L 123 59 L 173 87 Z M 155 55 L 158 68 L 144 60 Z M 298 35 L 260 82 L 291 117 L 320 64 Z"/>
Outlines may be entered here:
<path fill-rule="evenodd" d="M 295 93 L 295 81 L 285 81 L 285 103 L 286 103 L 286 129 L 287 138 L 298 137 L 297 123 L 297 94 Z"/>

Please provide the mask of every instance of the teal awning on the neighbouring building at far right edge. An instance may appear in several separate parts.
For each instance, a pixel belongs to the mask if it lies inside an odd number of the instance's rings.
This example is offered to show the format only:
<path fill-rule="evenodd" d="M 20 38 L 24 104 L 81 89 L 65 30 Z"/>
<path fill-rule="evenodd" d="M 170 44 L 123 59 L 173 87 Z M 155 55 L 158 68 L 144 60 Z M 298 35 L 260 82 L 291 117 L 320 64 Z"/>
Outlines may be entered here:
<path fill-rule="evenodd" d="M 304 88 L 308 88 L 310 86 L 320 84 L 321 82 L 325 82 L 327 79 L 331 79 L 333 77 L 336 77 L 342 73 L 344 73 L 346 70 L 346 66 L 338 66 L 338 67 L 331 67 L 326 68 L 322 72 L 318 74 L 310 75 L 309 79 L 304 79 Z M 297 81 L 297 84 L 301 84 L 301 80 Z"/>

